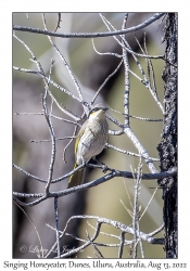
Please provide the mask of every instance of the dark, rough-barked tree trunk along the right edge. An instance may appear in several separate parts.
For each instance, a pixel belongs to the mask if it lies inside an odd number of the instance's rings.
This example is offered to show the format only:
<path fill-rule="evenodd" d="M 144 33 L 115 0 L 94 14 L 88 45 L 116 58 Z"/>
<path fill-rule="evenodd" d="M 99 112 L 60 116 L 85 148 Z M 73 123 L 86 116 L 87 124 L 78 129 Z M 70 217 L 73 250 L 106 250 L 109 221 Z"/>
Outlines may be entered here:
<path fill-rule="evenodd" d="M 177 166 L 177 14 L 166 15 L 164 29 L 166 42 L 163 72 L 164 90 L 164 126 L 162 141 L 157 146 L 161 158 L 161 170 L 166 171 Z M 159 180 L 163 189 L 163 219 L 165 223 L 166 258 L 177 258 L 177 177 Z"/>

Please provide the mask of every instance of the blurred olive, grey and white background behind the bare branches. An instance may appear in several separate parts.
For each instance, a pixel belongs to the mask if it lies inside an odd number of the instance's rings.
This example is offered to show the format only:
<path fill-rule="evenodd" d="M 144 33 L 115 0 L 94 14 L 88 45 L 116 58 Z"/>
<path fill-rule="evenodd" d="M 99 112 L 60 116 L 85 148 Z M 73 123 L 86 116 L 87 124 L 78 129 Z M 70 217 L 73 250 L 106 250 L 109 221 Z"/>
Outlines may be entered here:
<path fill-rule="evenodd" d="M 138 25 L 153 13 L 129 13 L 127 28 Z M 104 13 L 104 16 L 112 23 L 116 29 L 121 29 L 125 13 Z M 58 22 L 58 14 L 46 13 L 47 26 L 49 30 L 54 30 Z M 149 54 L 164 54 L 164 43 L 162 43 L 164 23 L 159 27 L 161 20 L 152 25 L 143 28 L 137 33 L 127 34 L 126 39 L 134 51 L 141 53 L 135 36 L 139 42 L 143 44 L 143 34 L 147 34 L 147 47 Z M 42 18 L 40 13 L 28 13 L 28 18 L 25 13 L 13 13 L 13 24 L 28 27 L 36 27 L 43 29 Z M 98 33 L 107 31 L 98 13 L 62 13 L 62 22 L 60 24 L 60 33 Z M 21 38 L 34 52 L 38 61 L 41 63 L 46 74 L 49 74 L 51 59 L 55 60 L 52 69 L 52 80 L 58 85 L 66 88 L 68 91 L 77 95 L 74 82 L 65 68 L 65 65 L 58 56 L 54 49 L 51 47 L 47 36 L 31 33 L 15 31 L 16 36 Z M 113 55 L 100 55 L 93 50 L 91 39 L 85 38 L 52 38 L 61 53 L 69 64 L 74 75 L 79 82 L 84 98 L 90 102 L 99 87 L 103 83 L 105 78 L 116 68 L 121 59 Z M 94 44 L 98 51 L 114 52 L 122 54 L 121 46 L 113 39 L 113 37 L 96 38 Z M 128 55 L 130 69 L 138 76 L 140 72 L 134 61 Z M 30 61 L 31 55 L 15 38 L 13 38 L 13 66 L 36 69 L 34 62 Z M 139 59 L 142 67 L 147 72 L 145 60 Z M 160 101 L 163 101 L 164 86 L 162 81 L 162 72 L 164 62 L 162 60 L 152 61 L 155 73 L 156 88 Z M 21 73 L 13 69 L 13 163 L 22 167 L 26 171 L 39 178 L 47 179 L 49 173 L 49 164 L 51 159 L 51 143 L 31 143 L 30 140 L 47 140 L 50 139 L 49 129 L 45 117 L 41 115 L 15 115 L 16 113 L 42 113 L 41 93 L 43 93 L 43 81 L 37 75 Z M 102 101 L 109 107 L 123 112 L 124 104 L 124 66 L 109 80 L 97 99 L 97 102 Z M 71 99 L 67 94 L 55 89 L 52 85 L 50 87 L 53 95 L 59 103 L 72 109 L 74 114 L 80 116 L 83 108 L 77 101 Z M 130 114 L 147 118 L 162 118 L 162 112 L 154 102 L 150 92 L 142 83 L 130 75 Z M 53 107 L 53 114 L 62 118 L 68 118 L 63 112 Z M 110 115 L 124 121 L 124 117 L 112 111 Z M 52 119 L 56 138 L 71 137 L 74 132 L 74 125 Z M 109 121 L 110 129 L 118 130 L 118 127 Z M 151 157 L 159 158 L 156 146 L 161 141 L 162 122 L 148 122 L 130 118 L 130 126 L 149 152 Z M 61 177 L 73 169 L 74 166 L 74 143 L 72 143 L 66 152 L 66 164 L 64 164 L 63 150 L 68 143 L 68 140 L 56 141 L 56 157 L 53 171 L 53 179 Z M 109 143 L 119 149 L 135 152 L 137 150 L 126 136 L 113 137 L 109 136 Z M 138 167 L 138 158 L 127 156 L 106 149 L 99 155 L 100 160 L 105 163 L 109 167 L 118 170 L 135 171 Z M 143 163 L 144 164 L 144 163 Z M 155 163 L 159 169 L 159 163 Z M 149 172 L 145 165 L 142 167 L 143 172 Z M 86 175 L 86 182 L 92 181 L 103 173 L 98 169 L 88 169 Z M 125 182 L 125 183 L 124 183 Z M 67 180 L 52 184 L 50 191 L 60 191 L 66 188 Z M 117 220 L 127 225 L 131 224 L 131 217 L 126 211 L 121 203 L 121 199 L 128 209 L 131 209 L 130 202 L 125 189 L 129 191 L 130 199 L 134 203 L 134 186 L 135 181 L 122 178 L 114 178 L 101 185 L 92 188 L 88 191 L 74 193 L 59 198 L 59 215 L 60 215 L 60 230 L 65 227 L 67 219 L 74 215 L 90 215 L 99 216 L 113 220 Z M 139 195 L 139 204 L 141 205 L 141 212 L 149 203 L 154 190 L 156 188 L 156 180 L 149 180 L 141 182 L 141 190 Z M 21 173 L 13 168 L 13 191 L 24 193 L 43 193 L 45 184 L 40 183 L 27 176 Z M 24 198 L 22 198 L 24 199 Z M 24 199 L 26 201 L 26 199 Z M 26 201 L 27 202 L 27 201 Z M 152 199 L 148 210 L 140 220 L 140 230 L 149 233 L 157 229 L 163 222 L 162 215 L 163 202 L 162 191 L 159 190 Z M 46 224 L 54 227 L 54 204 L 53 198 L 45 201 L 33 208 L 25 208 L 26 214 L 35 223 L 39 236 L 42 242 L 43 249 L 49 250 L 55 241 L 55 232 Z M 40 248 L 37 233 L 23 214 L 23 211 L 13 204 L 13 258 L 37 258 L 37 254 L 29 251 L 30 247 Z M 89 221 L 93 227 L 96 220 Z M 87 220 L 73 220 L 67 232 L 87 240 L 86 230 L 92 236 L 93 229 L 89 227 Z M 119 234 L 119 231 L 110 225 L 103 225 L 102 231 Z M 163 236 L 163 232 L 156 236 Z M 126 234 L 127 240 L 132 240 L 132 236 Z M 118 240 L 100 234 L 97 242 L 116 244 Z M 71 249 L 80 245 L 80 242 L 75 241 L 71 236 L 62 240 L 62 248 Z M 21 250 L 21 246 L 27 247 L 26 251 Z M 164 258 L 163 247 L 160 245 L 150 245 L 144 243 L 144 250 L 147 258 Z M 152 247 L 153 246 L 153 247 Z M 31 250 L 31 249 L 30 249 Z M 105 258 L 116 258 L 117 248 L 100 247 L 101 253 Z M 130 251 L 128 247 L 124 248 L 124 258 L 129 258 Z M 55 257 L 52 254 L 51 257 Z M 96 258 L 94 249 L 89 246 L 84 251 L 79 253 L 77 258 Z M 138 253 L 138 257 L 140 254 Z"/>

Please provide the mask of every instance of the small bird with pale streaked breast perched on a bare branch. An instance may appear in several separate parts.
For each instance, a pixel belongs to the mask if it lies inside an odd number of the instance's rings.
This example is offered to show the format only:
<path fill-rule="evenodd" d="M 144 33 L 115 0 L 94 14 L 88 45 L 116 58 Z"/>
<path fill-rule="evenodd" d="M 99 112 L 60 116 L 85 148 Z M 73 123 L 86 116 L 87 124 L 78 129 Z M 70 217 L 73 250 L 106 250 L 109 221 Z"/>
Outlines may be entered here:
<path fill-rule="evenodd" d="M 75 166 L 87 164 L 91 157 L 100 154 L 107 141 L 109 124 L 105 118 L 105 112 L 109 108 L 102 104 L 96 104 L 91 107 L 87 120 L 83 124 L 75 142 Z M 86 168 L 75 171 L 68 180 L 67 189 L 84 183 Z"/>

